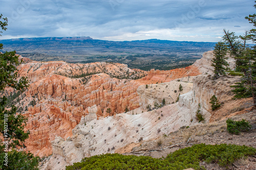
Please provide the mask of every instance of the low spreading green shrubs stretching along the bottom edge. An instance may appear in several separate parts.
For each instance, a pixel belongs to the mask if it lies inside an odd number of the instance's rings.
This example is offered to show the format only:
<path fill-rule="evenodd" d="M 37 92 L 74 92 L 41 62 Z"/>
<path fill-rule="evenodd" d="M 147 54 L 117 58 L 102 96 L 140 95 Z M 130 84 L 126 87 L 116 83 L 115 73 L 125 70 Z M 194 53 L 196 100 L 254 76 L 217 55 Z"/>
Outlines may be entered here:
<path fill-rule="evenodd" d="M 201 169 L 200 161 L 215 162 L 221 166 L 228 166 L 235 160 L 248 155 L 255 155 L 256 149 L 245 145 L 219 144 L 193 145 L 185 149 L 170 153 L 165 159 L 149 156 L 134 156 L 120 154 L 96 155 L 84 158 L 81 162 L 67 166 L 67 170 L 74 169 Z"/>

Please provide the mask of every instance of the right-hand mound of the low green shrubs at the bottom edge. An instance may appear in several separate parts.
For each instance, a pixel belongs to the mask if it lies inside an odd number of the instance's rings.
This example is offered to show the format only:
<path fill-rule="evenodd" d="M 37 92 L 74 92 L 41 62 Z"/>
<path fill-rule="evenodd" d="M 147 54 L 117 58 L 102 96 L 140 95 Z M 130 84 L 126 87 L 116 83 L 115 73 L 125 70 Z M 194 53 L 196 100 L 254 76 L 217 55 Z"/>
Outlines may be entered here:
<path fill-rule="evenodd" d="M 184 148 L 169 154 L 165 160 L 170 163 L 180 165 L 183 168 L 200 169 L 199 162 L 218 162 L 221 166 L 228 166 L 237 159 L 255 155 L 256 149 L 245 145 L 215 144 L 205 145 L 205 143 L 195 144 L 192 147 Z"/>

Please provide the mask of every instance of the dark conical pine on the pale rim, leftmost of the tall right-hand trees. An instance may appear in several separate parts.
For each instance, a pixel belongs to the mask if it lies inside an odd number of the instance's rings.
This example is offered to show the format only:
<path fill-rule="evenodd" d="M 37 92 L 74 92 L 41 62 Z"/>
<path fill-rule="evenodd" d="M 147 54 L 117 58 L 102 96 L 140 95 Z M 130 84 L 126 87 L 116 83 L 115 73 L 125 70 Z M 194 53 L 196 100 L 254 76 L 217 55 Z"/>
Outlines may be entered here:
<path fill-rule="evenodd" d="M 214 66 L 215 78 L 218 79 L 220 75 L 225 75 L 226 67 L 229 65 L 226 61 L 227 47 L 224 42 L 218 42 L 214 47 L 214 58 L 212 66 Z"/>

